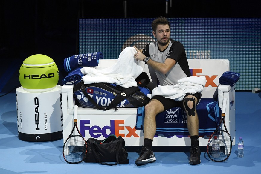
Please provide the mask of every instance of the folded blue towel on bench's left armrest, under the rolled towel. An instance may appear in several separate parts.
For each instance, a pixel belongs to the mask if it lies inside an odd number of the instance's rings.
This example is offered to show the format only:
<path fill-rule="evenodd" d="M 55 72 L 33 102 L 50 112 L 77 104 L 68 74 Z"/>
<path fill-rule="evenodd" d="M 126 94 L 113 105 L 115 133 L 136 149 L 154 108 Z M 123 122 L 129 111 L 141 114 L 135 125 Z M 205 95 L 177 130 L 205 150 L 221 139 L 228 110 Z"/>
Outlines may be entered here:
<path fill-rule="evenodd" d="M 82 67 L 78 67 L 75 68 L 70 73 L 68 73 L 68 75 L 64 79 L 62 79 L 62 84 L 72 85 L 80 82 L 84 76 L 83 73 L 81 72 L 81 69 Z"/>

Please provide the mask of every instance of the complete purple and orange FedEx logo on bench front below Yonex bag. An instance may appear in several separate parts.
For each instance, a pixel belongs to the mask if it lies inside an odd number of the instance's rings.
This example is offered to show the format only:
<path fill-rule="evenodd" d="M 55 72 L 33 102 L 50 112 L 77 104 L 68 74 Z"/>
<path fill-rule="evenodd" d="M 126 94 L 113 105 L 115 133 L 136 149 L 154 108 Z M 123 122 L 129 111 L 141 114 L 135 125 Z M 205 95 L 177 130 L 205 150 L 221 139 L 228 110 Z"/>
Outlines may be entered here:
<path fill-rule="evenodd" d="M 126 130 L 128 133 L 120 133 L 120 130 Z M 110 125 L 103 126 L 102 128 L 97 125 L 91 126 L 91 120 L 80 120 L 80 133 L 83 137 L 85 137 L 85 131 L 89 131 L 90 136 L 93 138 L 99 138 L 101 135 L 107 138 L 111 134 L 117 137 L 139 137 L 136 133 L 135 126 L 124 126 L 124 120 L 110 120 Z"/>

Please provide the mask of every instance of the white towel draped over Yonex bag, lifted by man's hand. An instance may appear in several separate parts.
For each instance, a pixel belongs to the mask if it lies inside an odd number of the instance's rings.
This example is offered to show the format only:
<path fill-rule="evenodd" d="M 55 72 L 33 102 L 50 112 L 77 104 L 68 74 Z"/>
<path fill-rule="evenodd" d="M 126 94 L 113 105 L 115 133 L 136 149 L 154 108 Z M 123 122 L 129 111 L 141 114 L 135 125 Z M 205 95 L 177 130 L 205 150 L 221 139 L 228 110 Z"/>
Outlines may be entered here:
<path fill-rule="evenodd" d="M 97 70 L 92 67 L 83 67 L 81 72 L 84 84 L 91 83 L 115 83 L 124 88 L 137 86 L 135 79 L 144 70 L 145 64 L 143 61 L 138 61 L 134 58 L 137 53 L 135 48 L 126 47 L 120 53 L 117 62 L 111 67 Z"/>

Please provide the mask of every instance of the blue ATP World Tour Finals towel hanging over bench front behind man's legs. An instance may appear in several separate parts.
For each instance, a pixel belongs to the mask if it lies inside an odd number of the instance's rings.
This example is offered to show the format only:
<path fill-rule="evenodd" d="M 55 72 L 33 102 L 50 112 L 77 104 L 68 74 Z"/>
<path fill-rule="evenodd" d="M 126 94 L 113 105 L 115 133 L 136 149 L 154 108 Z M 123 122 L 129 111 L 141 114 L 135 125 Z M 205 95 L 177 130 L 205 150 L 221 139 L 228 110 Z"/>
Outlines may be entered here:
<path fill-rule="evenodd" d="M 199 136 L 211 135 L 219 124 L 221 109 L 215 98 L 201 98 L 196 106 L 199 114 Z M 143 129 L 144 107 L 138 107 L 136 126 L 137 130 Z M 189 135 L 187 116 L 181 107 L 173 107 L 156 116 L 156 134 L 164 136 Z"/>

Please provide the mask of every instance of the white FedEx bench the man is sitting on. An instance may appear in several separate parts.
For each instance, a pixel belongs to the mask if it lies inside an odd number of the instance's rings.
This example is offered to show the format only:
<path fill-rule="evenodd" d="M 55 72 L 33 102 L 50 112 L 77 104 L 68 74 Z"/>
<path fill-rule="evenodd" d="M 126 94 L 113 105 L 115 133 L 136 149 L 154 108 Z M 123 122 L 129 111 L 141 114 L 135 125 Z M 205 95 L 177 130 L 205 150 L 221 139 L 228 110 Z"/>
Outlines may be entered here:
<path fill-rule="evenodd" d="M 102 59 L 97 69 L 103 69 L 115 64 L 117 60 Z M 222 99 L 228 98 L 225 123 L 231 134 L 232 145 L 235 145 L 235 90 L 229 85 L 220 85 L 219 77 L 225 71 L 229 71 L 229 61 L 227 59 L 189 59 L 189 67 L 192 69 L 193 76 L 206 76 L 207 83 L 202 91 L 202 98 L 213 98 L 218 94 L 219 107 L 222 106 Z M 154 75 L 150 75 L 146 65 L 144 71 L 149 75 L 150 79 L 154 79 Z M 154 84 L 151 83 L 153 88 Z M 71 133 L 73 127 L 73 106 L 74 106 L 74 85 L 62 86 L 62 114 L 63 114 L 63 137 L 64 142 Z M 122 136 L 126 146 L 142 146 L 143 130 L 136 130 L 136 113 L 137 108 L 119 108 L 116 112 L 114 109 L 107 111 L 97 110 L 93 108 L 78 107 L 78 127 L 86 138 L 94 137 L 104 139 L 109 134 Z M 207 136 L 199 138 L 199 146 L 207 146 Z M 158 136 L 153 139 L 153 146 L 190 146 L 190 138 L 178 138 L 173 136 L 167 138 Z"/>

